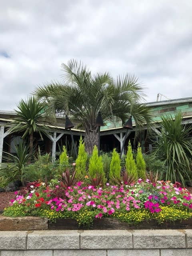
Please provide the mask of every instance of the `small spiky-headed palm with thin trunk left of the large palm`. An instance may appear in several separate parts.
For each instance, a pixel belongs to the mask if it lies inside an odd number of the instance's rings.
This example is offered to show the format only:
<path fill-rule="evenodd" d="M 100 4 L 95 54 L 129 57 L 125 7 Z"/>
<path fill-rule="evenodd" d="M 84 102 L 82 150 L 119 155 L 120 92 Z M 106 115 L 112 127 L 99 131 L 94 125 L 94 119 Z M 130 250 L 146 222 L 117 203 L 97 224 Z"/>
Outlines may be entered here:
<path fill-rule="evenodd" d="M 38 132 L 42 140 L 42 134 L 48 134 L 49 132 L 49 128 L 40 123 L 45 119 L 43 116 L 45 105 L 42 102 L 39 102 L 33 96 L 29 97 L 26 101 L 21 100 L 17 108 L 18 110 L 15 110 L 17 116 L 14 118 L 14 122 L 10 124 L 9 132 L 24 132 L 22 138 L 25 138 L 29 134 L 29 156 L 31 160 L 33 153 L 34 132 Z M 28 163 L 30 163 L 30 160 Z"/>

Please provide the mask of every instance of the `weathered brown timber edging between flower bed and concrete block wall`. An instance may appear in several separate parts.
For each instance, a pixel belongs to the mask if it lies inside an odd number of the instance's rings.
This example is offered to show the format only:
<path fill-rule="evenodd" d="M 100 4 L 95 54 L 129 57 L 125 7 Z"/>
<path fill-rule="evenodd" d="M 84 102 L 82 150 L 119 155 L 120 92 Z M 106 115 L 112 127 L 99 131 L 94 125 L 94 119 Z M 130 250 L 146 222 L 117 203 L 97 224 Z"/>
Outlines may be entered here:
<path fill-rule="evenodd" d="M 40 217 L 5 217 L 0 216 L 0 231 L 16 230 L 140 230 L 140 229 L 192 229 L 192 218 L 187 220 L 176 220 L 173 222 L 164 222 L 158 224 L 156 220 L 141 222 L 139 224 L 128 224 L 120 222 L 116 218 L 102 218 L 94 221 L 91 228 L 84 226 L 78 227 L 76 220 L 58 219 L 56 222 L 50 222 L 47 218 Z"/>

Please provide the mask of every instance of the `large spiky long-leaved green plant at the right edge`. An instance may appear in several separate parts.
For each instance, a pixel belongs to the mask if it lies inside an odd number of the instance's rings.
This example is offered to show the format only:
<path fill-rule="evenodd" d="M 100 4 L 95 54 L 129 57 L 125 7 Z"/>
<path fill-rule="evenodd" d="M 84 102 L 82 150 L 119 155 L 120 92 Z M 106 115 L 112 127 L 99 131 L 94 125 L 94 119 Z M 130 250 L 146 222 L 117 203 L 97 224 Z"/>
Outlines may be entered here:
<path fill-rule="evenodd" d="M 164 178 L 171 182 L 190 180 L 192 159 L 192 128 L 182 124 L 181 112 L 172 116 L 161 117 L 161 132 L 157 134 L 158 141 L 155 154 L 162 161 L 166 161 L 167 171 Z"/>

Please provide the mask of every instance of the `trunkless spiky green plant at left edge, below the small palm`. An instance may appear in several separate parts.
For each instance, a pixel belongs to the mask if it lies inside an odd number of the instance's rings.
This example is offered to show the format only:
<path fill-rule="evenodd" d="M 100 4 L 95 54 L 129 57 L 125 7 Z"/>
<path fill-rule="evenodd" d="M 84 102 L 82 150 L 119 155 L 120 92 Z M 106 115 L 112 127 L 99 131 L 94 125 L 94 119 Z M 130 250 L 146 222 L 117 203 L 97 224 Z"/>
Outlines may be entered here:
<path fill-rule="evenodd" d="M 29 146 L 25 141 L 20 140 L 19 144 L 15 146 L 15 151 L 16 154 L 4 152 L 3 159 L 7 164 L 0 169 L 0 173 L 10 181 L 19 179 L 23 182 L 24 170 L 30 159 Z"/>

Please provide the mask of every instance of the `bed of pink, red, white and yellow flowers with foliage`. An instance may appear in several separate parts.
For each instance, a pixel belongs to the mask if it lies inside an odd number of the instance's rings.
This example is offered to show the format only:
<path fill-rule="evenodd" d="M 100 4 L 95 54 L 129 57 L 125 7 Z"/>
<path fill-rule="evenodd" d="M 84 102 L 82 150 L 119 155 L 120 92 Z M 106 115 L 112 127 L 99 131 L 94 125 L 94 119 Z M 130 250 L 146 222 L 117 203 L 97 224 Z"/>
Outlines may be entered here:
<path fill-rule="evenodd" d="M 178 184 L 164 181 L 151 183 L 139 179 L 136 184 L 110 186 L 107 183 L 104 187 L 83 182 L 69 187 L 62 182 L 56 186 L 35 182 L 28 184 L 25 195 L 18 194 L 16 200 L 11 200 L 4 216 L 46 217 L 53 222 L 50 227 L 56 226 L 56 220 L 66 218 L 86 228 L 109 217 L 126 223 L 129 228 L 133 224 L 140 226 L 142 222 L 156 226 L 168 222 L 179 224 L 182 220 L 191 222 L 192 196 Z M 185 225 L 188 226 L 188 222 Z"/>

